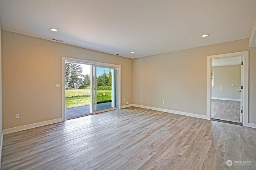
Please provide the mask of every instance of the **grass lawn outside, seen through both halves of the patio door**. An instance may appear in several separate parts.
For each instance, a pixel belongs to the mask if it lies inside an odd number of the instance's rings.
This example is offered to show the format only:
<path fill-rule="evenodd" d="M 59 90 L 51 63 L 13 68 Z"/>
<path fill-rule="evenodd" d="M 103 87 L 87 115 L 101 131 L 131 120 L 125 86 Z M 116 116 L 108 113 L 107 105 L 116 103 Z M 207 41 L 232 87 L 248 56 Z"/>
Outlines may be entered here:
<path fill-rule="evenodd" d="M 87 91 L 87 94 L 86 94 Z M 105 96 L 103 96 L 103 92 Z M 90 105 L 90 89 L 66 90 L 66 109 L 78 106 Z M 68 95 L 68 96 L 67 96 Z M 97 102 L 111 101 L 111 90 L 98 90 Z"/>

